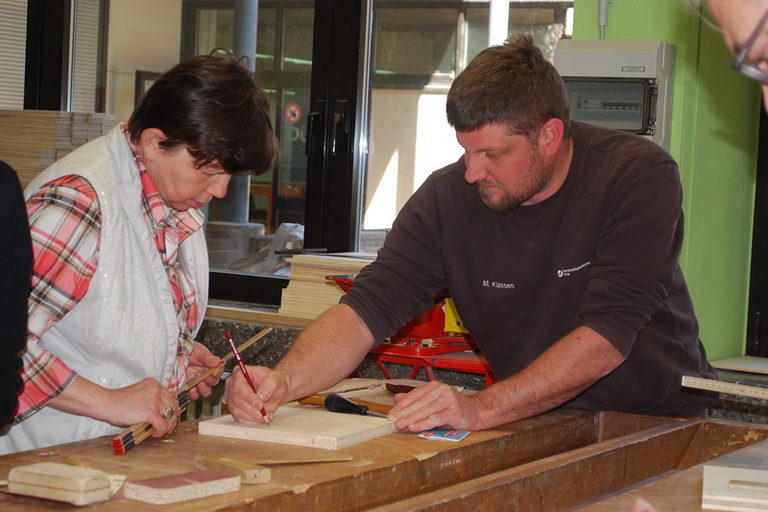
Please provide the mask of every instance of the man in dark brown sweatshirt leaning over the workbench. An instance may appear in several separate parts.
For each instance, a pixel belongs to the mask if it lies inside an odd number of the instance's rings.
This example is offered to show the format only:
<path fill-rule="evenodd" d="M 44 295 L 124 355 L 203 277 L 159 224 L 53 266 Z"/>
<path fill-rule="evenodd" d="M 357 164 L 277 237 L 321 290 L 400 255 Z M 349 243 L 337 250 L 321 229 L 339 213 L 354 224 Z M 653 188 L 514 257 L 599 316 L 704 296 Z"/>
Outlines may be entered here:
<path fill-rule="evenodd" d="M 227 382 L 239 421 L 333 385 L 446 287 L 500 382 L 396 396 L 399 429 L 478 430 L 564 405 L 702 416 L 683 375 L 714 377 L 677 256 L 672 158 L 635 135 L 569 120 L 562 79 L 518 36 L 476 57 L 448 94 L 464 156 L 403 207 L 375 262 L 274 370 Z"/>

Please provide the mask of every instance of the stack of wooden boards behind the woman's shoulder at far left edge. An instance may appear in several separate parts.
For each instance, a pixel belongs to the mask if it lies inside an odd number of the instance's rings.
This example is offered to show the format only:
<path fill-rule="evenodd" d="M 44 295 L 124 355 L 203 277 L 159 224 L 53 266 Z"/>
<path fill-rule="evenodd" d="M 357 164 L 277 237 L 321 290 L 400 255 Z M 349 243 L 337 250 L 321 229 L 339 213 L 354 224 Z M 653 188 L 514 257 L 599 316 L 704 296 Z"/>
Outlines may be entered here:
<path fill-rule="evenodd" d="M 26 186 L 40 171 L 114 125 L 112 114 L 0 110 L 0 159 Z"/>

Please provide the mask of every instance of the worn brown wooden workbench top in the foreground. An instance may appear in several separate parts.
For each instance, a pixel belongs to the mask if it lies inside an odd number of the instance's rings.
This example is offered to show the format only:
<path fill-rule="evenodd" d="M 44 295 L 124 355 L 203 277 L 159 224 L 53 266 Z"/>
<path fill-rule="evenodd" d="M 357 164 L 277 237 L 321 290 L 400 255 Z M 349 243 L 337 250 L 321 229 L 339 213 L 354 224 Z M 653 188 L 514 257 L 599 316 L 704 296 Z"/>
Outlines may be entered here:
<path fill-rule="evenodd" d="M 119 491 L 107 502 L 78 508 L 550 512 L 584 507 L 598 512 L 632 510 L 632 498 L 641 496 L 661 512 L 698 510 L 698 465 L 763 439 L 768 439 L 768 427 L 762 425 L 558 410 L 495 430 L 473 432 L 456 443 L 421 439 L 405 432 L 389 434 L 336 452 L 352 456 L 351 461 L 271 466 L 270 483 L 243 485 L 236 493 L 159 506 L 128 500 Z M 172 436 L 148 439 L 125 455 L 113 455 L 110 440 L 93 439 L 2 456 L 0 478 L 14 466 L 64 462 L 67 458 L 137 480 L 195 470 L 197 453 L 246 459 L 329 453 L 201 436 L 197 421 L 184 422 Z M 681 485 L 681 481 L 685 482 L 683 494 L 666 487 Z M 657 491 L 659 494 L 652 494 Z M 669 501 L 657 496 L 679 498 L 683 505 L 672 508 Z M 610 501 L 617 499 L 624 500 L 619 508 Z M 73 508 L 0 493 L 3 512 Z"/>

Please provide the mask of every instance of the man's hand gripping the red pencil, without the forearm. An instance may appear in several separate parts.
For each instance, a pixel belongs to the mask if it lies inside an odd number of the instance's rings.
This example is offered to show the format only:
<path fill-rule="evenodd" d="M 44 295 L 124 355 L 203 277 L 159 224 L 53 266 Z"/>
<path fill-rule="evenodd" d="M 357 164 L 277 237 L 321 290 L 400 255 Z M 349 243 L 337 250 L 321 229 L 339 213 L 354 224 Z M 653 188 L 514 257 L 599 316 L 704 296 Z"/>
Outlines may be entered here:
<path fill-rule="evenodd" d="M 279 371 L 264 366 L 246 366 L 256 393 L 245 380 L 240 368 L 235 367 L 232 376 L 227 379 L 224 400 L 236 421 L 242 423 L 265 423 L 271 420 L 277 408 L 287 400 L 290 388 L 287 377 Z M 265 418 L 261 408 L 267 412 Z"/>

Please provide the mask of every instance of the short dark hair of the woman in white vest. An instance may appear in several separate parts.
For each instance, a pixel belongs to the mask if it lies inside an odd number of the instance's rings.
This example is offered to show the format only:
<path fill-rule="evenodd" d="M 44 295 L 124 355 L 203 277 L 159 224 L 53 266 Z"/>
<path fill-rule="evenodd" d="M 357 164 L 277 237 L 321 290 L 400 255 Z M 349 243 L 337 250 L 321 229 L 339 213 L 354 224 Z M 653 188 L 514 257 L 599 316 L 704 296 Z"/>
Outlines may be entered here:
<path fill-rule="evenodd" d="M 267 97 L 232 56 L 194 57 L 160 76 L 128 121 L 133 142 L 147 128 L 165 133 L 166 149 L 186 146 L 198 167 L 261 174 L 277 158 Z"/>

